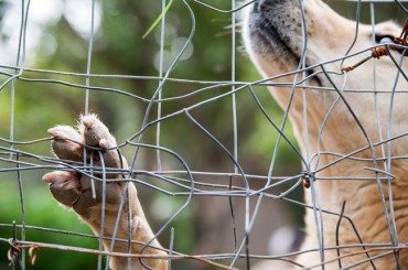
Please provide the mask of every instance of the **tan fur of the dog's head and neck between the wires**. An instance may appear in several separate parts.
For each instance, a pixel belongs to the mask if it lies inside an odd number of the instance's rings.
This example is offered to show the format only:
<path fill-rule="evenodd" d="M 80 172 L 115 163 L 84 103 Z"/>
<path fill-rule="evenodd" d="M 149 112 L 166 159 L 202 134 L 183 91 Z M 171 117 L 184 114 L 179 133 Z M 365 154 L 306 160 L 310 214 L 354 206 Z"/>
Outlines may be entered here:
<path fill-rule="evenodd" d="M 335 60 L 343 56 L 355 35 L 356 23 L 346 20 L 336 14 L 326 4 L 320 0 L 304 0 L 305 21 L 308 30 L 308 46 L 305 63 L 308 66 Z M 298 0 L 264 0 L 256 1 L 255 11 L 249 11 L 245 19 L 244 41 L 246 48 L 264 77 L 273 77 L 279 74 L 290 73 L 298 68 L 298 61 L 302 51 L 302 33 L 301 33 L 301 12 Z M 273 29 L 271 31 L 270 29 Z M 376 25 L 376 32 L 383 34 L 399 35 L 400 28 L 391 22 L 380 23 Z M 277 41 L 279 39 L 279 41 Z M 359 24 L 358 39 L 354 45 L 353 52 L 363 51 L 373 45 L 372 26 Z M 358 56 L 347 60 L 344 66 L 355 64 L 361 58 L 369 55 L 369 51 Z M 400 60 L 400 54 L 393 53 L 397 61 Z M 350 74 L 333 75 L 331 78 L 341 89 L 345 82 L 345 89 L 358 89 L 355 93 L 345 93 L 344 98 L 350 104 L 355 116 L 361 121 L 372 143 L 380 141 L 379 133 L 383 140 L 387 138 L 388 128 L 388 110 L 390 105 L 390 90 L 396 78 L 397 68 L 388 57 L 374 60 L 376 66 L 376 90 L 382 91 L 375 96 L 373 63 L 367 62 Z M 340 62 L 324 65 L 324 68 L 330 72 L 340 72 Z M 405 72 L 408 71 L 408 61 L 402 65 Z M 321 71 L 315 67 L 313 72 Z M 309 85 L 332 87 L 324 74 L 318 75 L 319 80 L 311 79 Z M 272 83 L 292 83 L 293 76 L 286 76 L 279 79 L 272 79 Z M 301 75 L 298 75 L 300 80 Z M 395 94 L 395 104 L 393 111 L 391 137 L 401 134 L 408 131 L 408 106 L 407 106 L 407 82 L 400 75 L 399 83 L 396 87 L 398 91 Z M 276 100 L 287 108 L 289 97 L 289 88 L 270 87 L 270 91 Z M 348 111 L 342 100 L 340 100 L 334 110 L 331 112 L 328 122 L 322 127 L 323 120 L 328 115 L 330 107 L 339 97 L 336 91 L 324 89 L 308 89 L 307 95 L 307 121 L 304 123 L 303 115 L 303 97 L 302 89 L 297 89 L 291 104 L 290 120 L 294 126 L 296 137 L 302 150 L 302 154 L 309 160 L 319 152 L 334 152 L 337 154 L 348 154 L 368 145 L 367 139 L 363 134 L 361 128 L 356 123 L 354 117 Z M 376 118 L 377 98 L 379 114 Z M 378 128 L 377 121 L 380 123 Z M 305 129 L 308 127 L 308 129 Z M 321 140 L 318 141 L 320 130 L 323 128 Z M 305 141 L 308 133 L 309 141 Z M 307 156 L 307 145 L 309 147 L 309 156 Z M 375 156 L 384 158 L 387 154 L 387 144 L 384 144 L 385 153 L 382 153 L 380 147 L 375 148 Z M 390 143 L 390 155 L 399 156 L 408 153 L 408 139 L 402 137 Z M 385 154 L 385 155 L 384 155 Z M 335 165 L 330 165 L 326 169 L 316 173 L 318 177 L 374 177 L 375 173 L 365 168 L 374 168 L 373 154 L 369 149 L 354 154 L 354 158 L 365 158 L 367 161 L 343 160 Z M 311 168 L 322 168 L 330 162 L 337 160 L 339 156 L 322 154 L 319 164 L 316 159 L 311 162 Z M 386 170 L 383 161 L 377 161 L 378 170 Z M 405 159 L 393 160 L 390 164 L 390 173 L 396 176 L 393 182 L 394 208 L 396 217 L 396 227 L 398 233 L 398 242 L 408 241 L 408 161 Z M 385 177 L 379 173 L 380 177 Z M 390 236 L 387 229 L 387 220 L 385 218 L 382 201 L 379 197 L 379 188 L 376 182 L 368 181 L 316 181 L 314 183 L 318 194 L 318 202 L 325 210 L 340 213 L 343 202 L 345 202 L 345 215 L 353 219 L 359 235 L 365 244 L 389 244 Z M 384 193 L 387 198 L 387 207 L 389 209 L 388 188 L 383 184 Z M 311 190 L 305 190 L 305 203 L 312 205 Z M 337 216 L 323 215 L 324 226 L 324 246 L 334 247 L 335 228 L 339 220 Z M 305 239 L 301 247 L 302 250 L 318 248 L 318 237 L 312 210 L 307 210 L 305 215 Z M 350 224 L 343 219 L 340 229 L 340 245 L 355 245 L 358 240 L 352 230 Z M 362 251 L 361 248 L 342 249 L 341 255 Z M 383 250 L 384 251 L 384 250 Z M 374 256 L 378 252 L 371 252 Z M 325 251 L 324 260 L 329 261 L 336 258 L 334 251 Z M 366 259 L 364 255 L 351 256 L 341 260 L 342 266 L 351 266 L 359 260 Z M 319 252 L 308 252 L 298 257 L 298 262 L 303 266 L 311 267 L 319 264 L 321 258 Z M 408 269 L 408 252 L 401 250 L 399 253 L 399 262 L 402 269 Z M 337 269 L 339 262 L 326 264 L 325 269 Z M 396 259 L 394 255 L 385 256 L 384 258 L 374 260 L 377 269 L 396 269 Z M 369 263 L 364 263 L 355 269 L 372 269 Z"/>

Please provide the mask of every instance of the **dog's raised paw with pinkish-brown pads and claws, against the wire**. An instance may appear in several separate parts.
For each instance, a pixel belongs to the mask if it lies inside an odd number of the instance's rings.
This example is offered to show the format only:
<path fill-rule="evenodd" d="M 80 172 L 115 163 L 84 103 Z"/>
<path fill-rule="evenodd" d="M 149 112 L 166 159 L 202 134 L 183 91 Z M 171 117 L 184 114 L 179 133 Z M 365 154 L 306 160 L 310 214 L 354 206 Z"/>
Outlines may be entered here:
<path fill-rule="evenodd" d="M 97 116 L 82 116 L 77 129 L 56 126 L 47 132 L 53 137 L 52 149 L 58 159 L 73 166 L 86 161 L 94 168 L 93 172 L 55 171 L 45 174 L 43 181 L 50 184 L 54 198 L 84 218 L 97 212 L 103 194 L 107 209 L 118 209 L 125 184 L 106 182 L 104 185 L 103 182 L 124 177 L 118 170 L 112 172 L 111 169 L 127 169 L 127 162 L 116 149 L 114 136 Z"/>

